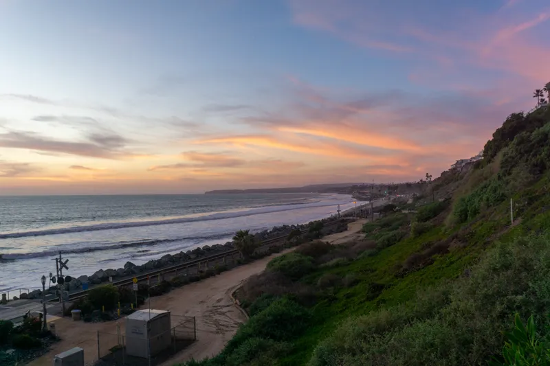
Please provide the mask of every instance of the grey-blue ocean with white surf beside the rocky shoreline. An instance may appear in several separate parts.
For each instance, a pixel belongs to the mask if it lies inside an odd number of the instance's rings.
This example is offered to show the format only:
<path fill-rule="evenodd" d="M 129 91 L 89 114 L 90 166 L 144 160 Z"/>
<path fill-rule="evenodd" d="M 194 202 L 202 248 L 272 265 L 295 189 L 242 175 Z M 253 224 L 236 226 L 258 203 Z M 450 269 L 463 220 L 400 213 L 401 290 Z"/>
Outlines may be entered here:
<path fill-rule="evenodd" d="M 40 288 L 63 274 L 143 264 L 166 253 L 223 244 L 235 231 L 292 225 L 353 207 L 342 194 L 0 196 L 0 293 Z"/>

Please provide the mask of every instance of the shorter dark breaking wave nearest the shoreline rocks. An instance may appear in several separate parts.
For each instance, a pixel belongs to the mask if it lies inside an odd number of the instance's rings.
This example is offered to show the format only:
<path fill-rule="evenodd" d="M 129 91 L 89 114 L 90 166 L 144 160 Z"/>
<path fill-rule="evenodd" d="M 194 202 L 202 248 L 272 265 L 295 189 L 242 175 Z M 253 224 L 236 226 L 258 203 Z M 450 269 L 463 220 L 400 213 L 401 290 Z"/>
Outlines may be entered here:
<path fill-rule="evenodd" d="M 41 257 L 49 257 L 52 255 L 57 255 L 58 253 L 63 254 L 75 254 L 75 253 L 91 253 L 95 251 L 111 251 L 115 249 L 124 249 L 124 248 L 131 248 L 131 247 L 144 247 L 144 246 L 153 246 L 158 244 L 168 244 L 170 242 L 181 242 L 181 241 L 203 241 L 203 240 L 217 240 L 217 239 L 223 239 L 228 238 L 232 236 L 233 233 L 219 233 L 219 234 L 213 234 L 210 236 L 192 236 L 187 238 L 175 238 L 175 239 L 159 239 L 159 240 L 137 240 L 135 242 L 117 242 L 115 244 L 109 244 L 109 245 L 99 245 L 95 247 L 80 247 L 80 248 L 72 248 L 72 249 L 52 249 L 48 251 L 41 251 L 41 252 L 33 252 L 33 253 L 7 253 L 7 254 L 1 254 L 0 253 L 0 261 L 1 260 L 24 260 L 24 259 L 30 259 L 30 258 L 41 258 Z M 172 250 L 173 251 L 173 250 Z"/>

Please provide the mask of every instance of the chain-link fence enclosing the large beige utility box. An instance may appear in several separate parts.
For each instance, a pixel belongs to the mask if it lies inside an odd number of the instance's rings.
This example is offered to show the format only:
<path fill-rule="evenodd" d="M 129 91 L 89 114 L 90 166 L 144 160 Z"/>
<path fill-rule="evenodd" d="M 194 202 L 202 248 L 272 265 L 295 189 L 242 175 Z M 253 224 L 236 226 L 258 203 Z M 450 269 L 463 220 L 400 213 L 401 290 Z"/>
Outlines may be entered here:
<path fill-rule="evenodd" d="M 169 319 L 170 327 L 147 324 L 143 330 L 134 327 L 126 334 L 124 325 L 120 325 L 116 333 L 98 332 L 95 365 L 153 366 L 167 361 L 197 339 L 195 317 L 170 314 Z"/>

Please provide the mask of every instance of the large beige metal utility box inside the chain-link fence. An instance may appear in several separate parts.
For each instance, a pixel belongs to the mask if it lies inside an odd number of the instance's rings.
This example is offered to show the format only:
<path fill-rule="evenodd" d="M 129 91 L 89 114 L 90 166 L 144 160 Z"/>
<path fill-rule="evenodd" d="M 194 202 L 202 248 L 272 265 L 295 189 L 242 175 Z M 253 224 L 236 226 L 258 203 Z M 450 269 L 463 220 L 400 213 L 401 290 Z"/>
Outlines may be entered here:
<path fill-rule="evenodd" d="M 138 310 L 126 317 L 126 354 L 148 358 L 172 344 L 170 312 Z"/>

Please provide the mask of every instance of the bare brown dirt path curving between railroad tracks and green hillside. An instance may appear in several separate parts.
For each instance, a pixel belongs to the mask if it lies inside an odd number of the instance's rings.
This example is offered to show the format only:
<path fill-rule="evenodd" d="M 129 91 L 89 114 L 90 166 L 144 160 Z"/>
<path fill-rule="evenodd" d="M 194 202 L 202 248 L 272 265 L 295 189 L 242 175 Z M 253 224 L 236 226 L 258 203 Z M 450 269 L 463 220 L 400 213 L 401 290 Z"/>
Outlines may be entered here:
<path fill-rule="evenodd" d="M 333 244 L 355 240 L 358 238 L 358 231 L 364 222 L 366 220 L 351 222 L 347 231 L 326 236 L 322 240 Z M 172 366 L 192 358 L 200 360 L 221 352 L 239 325 L 246 320 L 239 308 L 234 306 L 230 294 L 245 279 L 263 271 L 267 262 L 287 251 L 233 268 L 221 275 L 200 282 L 188 284 L 172 290 L 166 295 L 151 298 L 151 308 L 170 310 L 175 315 L 197 317 L 197 341 L 163 363 L 162 366 Z M 147 306 L 142 306 L 142 308 L 147 308 Z M 56 343 L 52 350 L 41 358 L 28 363 L 29 366 L 50 366 L 56 354 L 72 347 L 83 348 L 85 364 L 91 365 L 93 361 L 97 360 L 97 332 L 116 333 L 115 321 L 84 323 L 65 317 L 57 319 L 54 323 L 56 332 L 62 341 Z M 121 328 L 124 329 L 123 320 L 120 323 Z"/>

